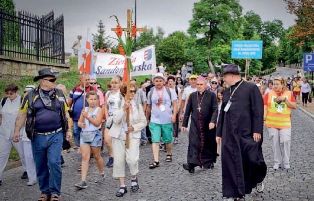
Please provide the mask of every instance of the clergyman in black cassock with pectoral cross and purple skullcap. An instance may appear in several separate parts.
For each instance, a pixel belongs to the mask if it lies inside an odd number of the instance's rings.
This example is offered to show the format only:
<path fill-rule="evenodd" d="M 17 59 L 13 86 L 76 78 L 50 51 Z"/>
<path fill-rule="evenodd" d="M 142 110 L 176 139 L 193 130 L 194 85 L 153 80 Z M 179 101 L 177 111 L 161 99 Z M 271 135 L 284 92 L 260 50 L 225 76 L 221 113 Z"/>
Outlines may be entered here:
<path fill-rule="evenodd" d="M 188 161 L 183 164 L 183 168 L 190 173 L 194 173 L 197 166 L 213 168 L 217 158 L 217 97 L 215 93 L 205 89 L 206 84 L 206 79 L 199 76 L 197 91 L 189 97 L 182 123 L 182 131 L 185 132 L 191 118 Z"/>

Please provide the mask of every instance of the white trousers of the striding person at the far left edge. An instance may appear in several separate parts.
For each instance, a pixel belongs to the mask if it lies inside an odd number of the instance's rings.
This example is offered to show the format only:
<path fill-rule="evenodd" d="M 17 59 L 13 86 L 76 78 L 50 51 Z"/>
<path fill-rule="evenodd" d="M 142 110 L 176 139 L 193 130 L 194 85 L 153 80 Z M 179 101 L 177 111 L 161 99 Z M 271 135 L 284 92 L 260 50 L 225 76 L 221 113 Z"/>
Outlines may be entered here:
<path fill-rule="evenodd" d="M 2 180 L 2 174 L 7 165 L 12 145 L 19 153 L 24 171 L 26 171 L 26 163 L 25 163 L 22 139 L 19 142 L 13 142 L 12 139 L 6 140 L 0 137 L 0 180 Z"/>

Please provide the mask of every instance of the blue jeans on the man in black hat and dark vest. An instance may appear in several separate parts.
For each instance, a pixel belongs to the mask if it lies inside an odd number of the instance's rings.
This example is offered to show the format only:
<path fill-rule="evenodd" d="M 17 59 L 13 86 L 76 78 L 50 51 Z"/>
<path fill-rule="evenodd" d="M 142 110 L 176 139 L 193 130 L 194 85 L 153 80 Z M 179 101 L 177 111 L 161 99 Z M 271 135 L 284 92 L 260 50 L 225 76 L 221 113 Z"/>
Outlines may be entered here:
<path fill-rule="evenodd" d="M 34 135 L 32 140 L 33 157 L 39 189 L 42 194 L 61 194 L 61 149 L 63 131 L 49 135 Z"/>

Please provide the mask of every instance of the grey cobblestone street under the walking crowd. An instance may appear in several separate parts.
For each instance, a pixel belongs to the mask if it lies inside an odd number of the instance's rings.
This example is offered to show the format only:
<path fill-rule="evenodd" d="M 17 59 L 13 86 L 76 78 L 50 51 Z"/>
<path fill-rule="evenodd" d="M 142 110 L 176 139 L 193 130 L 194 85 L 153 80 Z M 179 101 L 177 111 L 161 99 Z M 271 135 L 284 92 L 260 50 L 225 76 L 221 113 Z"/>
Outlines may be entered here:
<path fill-rule="evenodd" d="M 246 200 L 314 200 L 314 120 L 300 109 L 292 112 L 292 135 L 290 170 L 272 169 L 273 152 L 264 129 L 263 152 L 268 166 L 264 180 L 263 193 L 253 192 Z M 140 165 L 138 181 L 140 190 L 130 192 L 129 170 L 126 168 L 126 184 L 128 192 L 122 198 L 115 196 L 119 188 L 117 179 L 112 178 L 112 168 L 104 168 L 105 179 L 102 183 L 94 183 L 97 173 L 94 159 L 91 160 L 88 175 L 88 188 L 78 190 L 74 184 L 80 181 L 80 172 L 76 169 L 81 163 L 80 154 L 76 150 L 63 154 L 63 178 L 61 188 L 62 200 L 223 200 L 221 184 L 221 163 L 218 158 L 215 168 L 203 170 L 197 168 L 190 174 L 182 168 L 186 162 L 188 138 L 186 134 L 179 136 L 179 144 L 173 146 L 173 161 L 165 161 L 166 153 L 160 152 L 160 167 L 149 169 L 153 162 L 151 145 L 140 147 Z M 108 161 L 107 152 L 102 153 L 104 164 Z M 223 157 L 223 156 L 222 156 Z M 4 172 L 0 186 L 0 200 L 37 200 L 40 196 L 38 184 L 27 186 L 27 179 L 22 180 L 22 167 Z"/>

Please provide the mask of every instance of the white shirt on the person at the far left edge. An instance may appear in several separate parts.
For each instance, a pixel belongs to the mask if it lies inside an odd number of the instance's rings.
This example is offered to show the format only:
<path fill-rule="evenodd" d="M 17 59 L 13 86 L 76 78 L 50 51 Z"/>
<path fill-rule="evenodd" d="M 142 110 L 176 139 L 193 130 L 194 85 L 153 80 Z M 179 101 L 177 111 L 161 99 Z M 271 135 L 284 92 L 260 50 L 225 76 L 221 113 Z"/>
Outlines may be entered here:
<path fill-rule="evenodd" d="M 5 138 L 6 140 L 12 138 L 14 134 L 14 124 L 19 114 L 20 105 L 20 95 L 18 95 L 12 102 L 9 98 L 7 98 L 3 107 L 0 104 L 0 115 L 2 115 L 2 122 L 0 125 L 0 137 Z"/>

